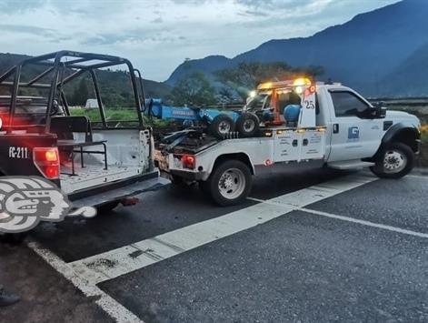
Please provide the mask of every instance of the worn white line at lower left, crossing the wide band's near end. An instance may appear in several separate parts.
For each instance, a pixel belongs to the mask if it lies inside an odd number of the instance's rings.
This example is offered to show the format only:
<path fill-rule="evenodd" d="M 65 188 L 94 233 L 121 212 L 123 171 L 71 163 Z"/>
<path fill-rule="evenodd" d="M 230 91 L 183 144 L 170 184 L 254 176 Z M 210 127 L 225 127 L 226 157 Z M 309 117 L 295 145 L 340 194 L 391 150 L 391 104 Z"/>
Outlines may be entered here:
<path fill-rule="evenodd" d="M 86 297 L 95 297 L 95 303 L 105 310 L 105 312 L 118 323 L 144 323 L 140 318 L 137 318 L 134 313 L 124 308 L 122 304 L 114 298 L 108 296 L 103 290 L 96 287 L 94 284 L 89 284 L 85 278 L 75 274 L 75 271 L 62 259 L 57 257 L 50 250 L 41 247 L 35 241 L 29 241 L 28 247 L 32 248 L 35 253 L 43 257 L 45 261 L 55 268 L 67 280 L 73 283 L 76 288 L 79 288 Z"/>

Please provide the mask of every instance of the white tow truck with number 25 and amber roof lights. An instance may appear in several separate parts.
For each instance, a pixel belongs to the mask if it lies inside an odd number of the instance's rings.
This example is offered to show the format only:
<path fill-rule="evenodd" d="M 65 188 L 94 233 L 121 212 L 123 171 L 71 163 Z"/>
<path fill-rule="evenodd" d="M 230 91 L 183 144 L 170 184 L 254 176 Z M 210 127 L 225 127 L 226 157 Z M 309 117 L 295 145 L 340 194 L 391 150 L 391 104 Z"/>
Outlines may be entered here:
<path fill-rule="evenodd" d="M 220 140 L 191 129 L 174 133 L 157 146 L 159 167 L 175 183 L 199 182 L 214 202 L 229 206 L 248 196 L 253 176 L 264 167 L 316 162 L 370 167 L 378 177 L 398 178 L 412 170 L 419 152 L 416 116 L 373 106 L 341 84 L 308 78 L 264 83 L 244 110 L 252 116 L 244 126 L 253 136 L 230 133 Z M 294 119 L 286 110 L 294 111 Z"/>

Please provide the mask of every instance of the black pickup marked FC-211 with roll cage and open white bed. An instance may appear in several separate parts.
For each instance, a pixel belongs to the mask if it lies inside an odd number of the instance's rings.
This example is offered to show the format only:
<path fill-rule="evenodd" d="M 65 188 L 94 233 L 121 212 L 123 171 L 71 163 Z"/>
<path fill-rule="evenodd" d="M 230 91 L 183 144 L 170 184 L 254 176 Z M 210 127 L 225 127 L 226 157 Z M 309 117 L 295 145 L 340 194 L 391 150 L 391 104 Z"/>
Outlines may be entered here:
<path fill-rule="evenodd" d="M 130 120 L 105 113 L 97 71 L 115 66 L 128 71 L 134 101 Z M 121 57 L 70 51 L 28 58 L 5 71 L 0 76 L 0 174 L 48 178 L 75 207 L 104 209 L 166 184 L 154 167 L 152 132 L 140 114 L 144 91 L 137 72 Z M 91 81 L 97 98 L 95 121 L 74 116 L 67 103 L 67 85 L 82 79 Z"/>

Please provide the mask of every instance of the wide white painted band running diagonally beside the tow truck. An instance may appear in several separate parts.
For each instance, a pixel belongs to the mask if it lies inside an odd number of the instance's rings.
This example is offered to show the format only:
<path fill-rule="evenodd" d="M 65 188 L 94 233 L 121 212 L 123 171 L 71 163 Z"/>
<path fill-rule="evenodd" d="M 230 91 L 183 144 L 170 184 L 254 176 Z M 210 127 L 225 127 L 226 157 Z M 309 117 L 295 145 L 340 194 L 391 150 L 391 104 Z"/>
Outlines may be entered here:
<path fill-rule="evenodd" d="M 214 217 L 204 222 L 167 232 L 134 244 L 119 247 L 105 253 L 86 257 L 69 263 L 75 273 L 96 285 L 108 279 L 117 278 L 134 270 L 147 267 L 185 251 L 203 246 L 222 237 L 228 237 L 292 212 L 296 207 L 304 207 L 346 190 L 360 187 L 376 180 L 375 177 L 352 175 L 308 187 L 299 191 L 260 200 L 264 203 L 245 207 L 222 217 Z"/>

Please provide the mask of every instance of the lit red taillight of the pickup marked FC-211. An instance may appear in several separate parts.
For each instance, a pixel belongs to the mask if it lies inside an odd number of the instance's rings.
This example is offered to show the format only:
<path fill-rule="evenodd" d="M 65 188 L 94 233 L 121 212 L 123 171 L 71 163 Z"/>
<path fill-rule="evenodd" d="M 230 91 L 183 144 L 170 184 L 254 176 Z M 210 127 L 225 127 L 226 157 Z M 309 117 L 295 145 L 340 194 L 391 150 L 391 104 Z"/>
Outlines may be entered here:
<path fill-rule="evenodd" d="M 55 179 L 59 177 L 59 154 L 56 147 L 33 148 L 33 161 L 35 167 L 44 177 Z"/>

